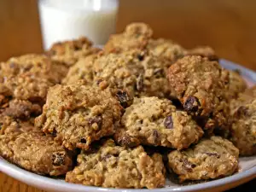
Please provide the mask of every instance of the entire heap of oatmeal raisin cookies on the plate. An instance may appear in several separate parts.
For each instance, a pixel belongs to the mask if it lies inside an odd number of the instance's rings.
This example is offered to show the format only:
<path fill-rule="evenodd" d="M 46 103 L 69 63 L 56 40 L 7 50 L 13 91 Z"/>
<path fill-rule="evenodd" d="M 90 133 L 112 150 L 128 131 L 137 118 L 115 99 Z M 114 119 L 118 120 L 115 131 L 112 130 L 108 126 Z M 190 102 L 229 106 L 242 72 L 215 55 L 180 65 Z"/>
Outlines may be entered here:
<path fill-rule="evenodd" d="M 0 154 L 30 172 L 105 188 L 230 176 L 256 154 L 256 88 L 209 47 L 126 26 L 0 65 Z M 171 176 L 170 176 L 171 175 Z"/>

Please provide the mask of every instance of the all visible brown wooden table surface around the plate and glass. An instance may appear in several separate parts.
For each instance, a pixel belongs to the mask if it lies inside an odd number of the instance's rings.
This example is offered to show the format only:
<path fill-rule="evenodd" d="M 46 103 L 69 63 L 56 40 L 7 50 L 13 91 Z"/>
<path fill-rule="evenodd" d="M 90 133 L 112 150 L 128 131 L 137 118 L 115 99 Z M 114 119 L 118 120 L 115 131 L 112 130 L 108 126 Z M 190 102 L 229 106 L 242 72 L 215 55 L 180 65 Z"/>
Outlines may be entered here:
<path fill-rule="evenodd" d="M 220 57 L 256 70 L 256 1 L 120 0 L 117 31 L 147 22 L 155 38 L 172 38 L 186 48 L 208 44 Z M 0 61 L 42 52 L 36 0 L 0 1 Z M 256 180 L 230 191 L 253 191 Z M 254 188 L 253 188 L 254 187 Z M 42 192 L 0 172 L 0 192 Z"/>

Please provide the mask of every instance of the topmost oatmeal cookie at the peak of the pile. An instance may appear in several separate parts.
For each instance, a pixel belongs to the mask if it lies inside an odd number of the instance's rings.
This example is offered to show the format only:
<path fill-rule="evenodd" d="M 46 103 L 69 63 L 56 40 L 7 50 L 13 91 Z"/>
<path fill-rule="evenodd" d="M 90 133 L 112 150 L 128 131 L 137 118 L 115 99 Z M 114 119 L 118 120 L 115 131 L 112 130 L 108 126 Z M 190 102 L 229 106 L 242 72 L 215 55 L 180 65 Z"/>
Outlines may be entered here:
<path fill-rule="evenodd" d="M 119 52 L 130 49 L 144 49 L 153 31 L 145 23 L 131 23 L 125 32 L 112 35 L 104 46 L 106 52 Z"/>

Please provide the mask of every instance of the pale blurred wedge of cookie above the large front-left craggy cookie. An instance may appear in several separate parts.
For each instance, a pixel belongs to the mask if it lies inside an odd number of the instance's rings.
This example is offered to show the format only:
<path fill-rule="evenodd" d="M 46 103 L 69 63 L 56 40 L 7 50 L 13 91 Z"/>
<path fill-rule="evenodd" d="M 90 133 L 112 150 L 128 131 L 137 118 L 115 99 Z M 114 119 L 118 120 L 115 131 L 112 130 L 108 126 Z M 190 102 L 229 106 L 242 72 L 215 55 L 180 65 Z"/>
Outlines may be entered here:
<path fill-rule="evenodd" d="M 70 67 L 65 79 L 62 80 L 62 84 L 74 84 L 79 80 L 84 80 L 85 84 L 93 84 L 93 62 L 96 59 L 96 55 L 88 55 L 84 58 L 80 58 L 73 67 Z"/>

